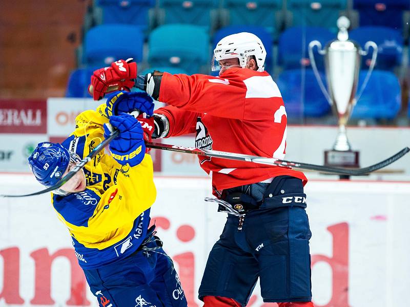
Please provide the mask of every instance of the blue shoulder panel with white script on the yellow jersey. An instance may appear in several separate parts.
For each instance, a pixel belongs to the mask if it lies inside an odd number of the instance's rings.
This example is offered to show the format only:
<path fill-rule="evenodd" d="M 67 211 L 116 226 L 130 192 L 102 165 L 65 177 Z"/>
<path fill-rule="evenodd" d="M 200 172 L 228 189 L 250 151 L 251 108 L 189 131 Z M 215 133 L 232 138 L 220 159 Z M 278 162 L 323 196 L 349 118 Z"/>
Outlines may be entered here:
<path fill-rule="evenodd" d="M 91 189 L 66 196 L 53 196 L 53 206 L 68 223 L 75 226 L 88 226 L 89 218 L 94 214 L 100 196 Z"/>

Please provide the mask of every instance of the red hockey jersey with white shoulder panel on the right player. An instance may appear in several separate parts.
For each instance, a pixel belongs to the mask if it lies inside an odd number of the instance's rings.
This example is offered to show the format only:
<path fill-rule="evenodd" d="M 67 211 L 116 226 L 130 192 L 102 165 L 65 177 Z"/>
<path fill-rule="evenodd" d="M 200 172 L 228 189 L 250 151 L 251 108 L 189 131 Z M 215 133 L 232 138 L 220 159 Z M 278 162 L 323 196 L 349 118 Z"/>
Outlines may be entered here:
<path fill-rule="evenodd" d="M 267 72 L 231 68 L 220 77 L 164 73 L 155 113 L 170 122 L 167 137 L 196 133 L 195 147 L 283 159 L 286 111 L 278 86 Z M 223 189 L 300 171 L 221 158 L 199 157 L 212 178 L 214 194 Z"/>

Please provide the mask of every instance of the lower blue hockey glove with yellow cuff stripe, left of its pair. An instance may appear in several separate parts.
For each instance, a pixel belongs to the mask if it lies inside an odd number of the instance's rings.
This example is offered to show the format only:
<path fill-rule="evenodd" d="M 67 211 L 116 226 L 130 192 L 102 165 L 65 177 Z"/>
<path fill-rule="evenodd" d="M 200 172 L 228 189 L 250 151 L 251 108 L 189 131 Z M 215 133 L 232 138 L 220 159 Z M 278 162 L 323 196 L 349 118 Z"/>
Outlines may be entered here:
<path fill-rule="evenodd" d="M 144 143 L 144 130 L 141 124 L 132 115 L 121 113 L 111 116 L 110 124 L 120 132 L 118 137 L 110 143 L 112 157 L 121 165 L 135 166 L 144 159 L 146 146 Z M 104 137 L 111 134 L 109 127 L 104 124 Z"/>

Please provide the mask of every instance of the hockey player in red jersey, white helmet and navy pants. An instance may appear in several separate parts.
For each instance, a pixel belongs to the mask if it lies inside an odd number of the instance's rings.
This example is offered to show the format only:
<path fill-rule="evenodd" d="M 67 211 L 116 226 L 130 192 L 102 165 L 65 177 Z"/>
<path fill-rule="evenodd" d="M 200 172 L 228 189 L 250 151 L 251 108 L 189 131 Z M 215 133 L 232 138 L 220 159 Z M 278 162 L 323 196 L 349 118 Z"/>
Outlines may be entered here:
<path fill-rule="evenodd" d="M 197 148 L 283 159 L 286 111 L 265 57 L 261 40 L 243 32 L 218 42 L 212 70 L 219 77 L 138 76 L 136 63 L 119 60 L 96 70 L 89 90 L 99 100 L 135 86 L 168 103 L 155 111 L 154 137 L 196 133 Z M 312 307 L 304 174 L 220 158 L 199 163 L 212 178 L 218 211 L 230 213 L 199 288 L 204 306 L 245 306 L 259 278 L 264 302 Z"/>

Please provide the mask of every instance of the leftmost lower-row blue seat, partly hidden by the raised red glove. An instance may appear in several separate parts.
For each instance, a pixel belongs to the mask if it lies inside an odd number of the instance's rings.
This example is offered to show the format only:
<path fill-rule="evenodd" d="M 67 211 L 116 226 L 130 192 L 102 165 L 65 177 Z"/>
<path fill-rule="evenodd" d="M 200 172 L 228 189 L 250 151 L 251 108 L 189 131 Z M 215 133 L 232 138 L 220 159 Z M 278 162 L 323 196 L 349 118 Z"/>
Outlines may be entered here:
<path fill-rule="evenodd" d="M 88 94 L 88 85 L 91 81 L 91 76 L 97 68 L 78 68 L 73 70 L 68 78 L 65 97 L 71 98 L 91 98 Z"/>

